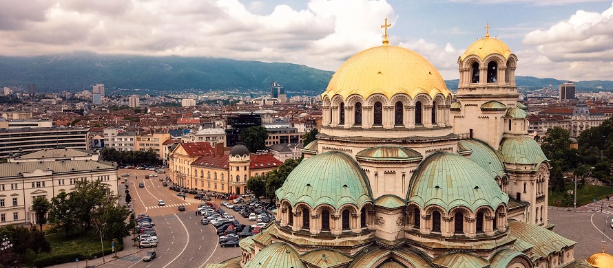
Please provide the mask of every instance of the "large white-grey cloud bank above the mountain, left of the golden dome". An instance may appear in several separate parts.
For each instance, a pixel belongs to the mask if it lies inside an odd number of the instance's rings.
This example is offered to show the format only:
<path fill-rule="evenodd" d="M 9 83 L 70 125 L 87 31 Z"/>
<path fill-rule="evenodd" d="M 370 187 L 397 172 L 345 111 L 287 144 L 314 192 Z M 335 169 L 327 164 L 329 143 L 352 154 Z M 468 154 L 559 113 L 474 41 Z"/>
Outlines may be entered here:
<path fill-rule="evenodd" d="M 10 4 L 8 3 L 10 2 Z M 379 45 L 386 1 L 311 0 L 295 10 L 238 0 L 0 1 L 0 53 L 212 56 L 336 69 Z M 256 10 L 251 12 L 249 10 Z"/>

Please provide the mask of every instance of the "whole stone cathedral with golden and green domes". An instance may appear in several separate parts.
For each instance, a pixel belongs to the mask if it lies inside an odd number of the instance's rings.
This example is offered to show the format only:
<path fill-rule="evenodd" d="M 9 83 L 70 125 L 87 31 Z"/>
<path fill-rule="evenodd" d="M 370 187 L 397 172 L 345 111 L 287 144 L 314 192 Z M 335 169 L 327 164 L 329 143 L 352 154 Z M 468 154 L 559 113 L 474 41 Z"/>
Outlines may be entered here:
<path fill-rule="evenodd" d="M 517 62 L 487 33 L 459 56 L 454 96 L 386 31 L 322 94 L 322 130 L 276 191 L 275 221 L 209 267 L 590 267 L 548 223 L 550 164 Z"/>

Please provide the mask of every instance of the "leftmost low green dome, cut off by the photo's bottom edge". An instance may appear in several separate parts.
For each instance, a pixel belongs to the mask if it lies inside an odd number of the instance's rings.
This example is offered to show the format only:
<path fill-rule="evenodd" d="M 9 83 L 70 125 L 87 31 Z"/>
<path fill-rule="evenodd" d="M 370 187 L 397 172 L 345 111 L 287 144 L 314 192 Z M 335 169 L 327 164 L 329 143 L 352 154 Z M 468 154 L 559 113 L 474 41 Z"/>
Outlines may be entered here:
<path fill-rule="evenodd" d="M 298 252 L 286 243 L 276 242 L 264 247 L 247 262 L 245 268 L 306 268 Z"/>

